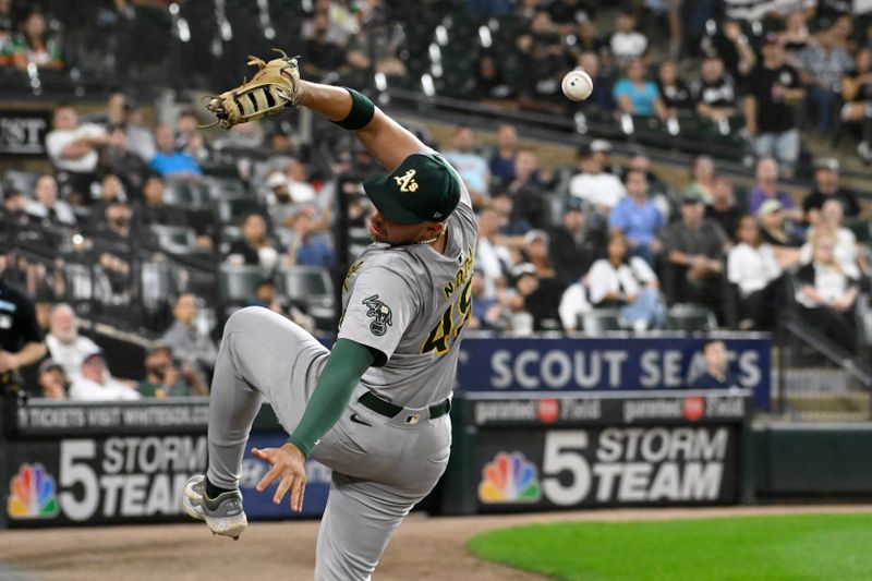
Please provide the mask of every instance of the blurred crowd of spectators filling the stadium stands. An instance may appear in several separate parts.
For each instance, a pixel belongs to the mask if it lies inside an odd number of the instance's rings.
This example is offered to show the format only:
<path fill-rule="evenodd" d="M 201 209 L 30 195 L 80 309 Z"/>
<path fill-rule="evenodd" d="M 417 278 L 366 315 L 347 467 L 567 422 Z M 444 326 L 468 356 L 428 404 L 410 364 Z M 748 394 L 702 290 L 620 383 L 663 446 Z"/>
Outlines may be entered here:
<path fill-rule="evenodd" d="M 744 128 L 758 159 L 748 191 L 704 155 L 669 185 L 642 149 L 617 160 L 608 141 L 585 140 L 573 165 L 555 168 L 519 142 L 511 123 L 494 128 L 493 143 L 457 126 L 433 145 L 460 172 L 479 216 L 470 328 L 584 330 L 585 315 L 611 312 L 619 328 L 647 332 L 666 328 L 675 305 L 692 304 L 722 326 L 772 330 L 777 306 L 791 303 L 853 352 L 870 266 L 846 220 L 861 205 L 839 184 L 836 159 L 816 160 L 814 185 L 801 198 L 783 184 L 797 169 L 800 125 L 856 125 L 863 154 L 872 135 L 864 31 L 855 34 L 837 14 L 790 12 L 753 32 L 747 22 L 715 19 L 706 2 L 679 4 L 639 2 L 616 13 L 582 0 L 468 2 L 483 23 L 521 24 L 511 53 L 495 58 L 482 48 L 472 58 L 470 96 L 566 112 L 559 80 L 581 65 L 595 77 L 591 98 L 572 106 L 581 112 L 616 122 L 698 116 Z M 20 17 L 12 5 L 0 0 L 2 65 L 63 66 L 59 28 L 38 12 Z M 352 13 L 346 2 L 313 2 L 302 23 L 304 75 L 366 85 L 373 70 L 411 74 L 402 28 L 367 31 L 362 23 L 382 22 L 384 4 L 366 5 Z M 603 14 L 615 14 L 608 28 Z M 654 33 L 663 22 L 665 43 Z M 524 83 L 512 84 L 512 63 Z M 51 171 L 3 184 L 4 235 L 24 242 L 4 278 L 35 299 L 49 359 L 38 365 L 38 389 L 31 387 L 46 397 L 204 394 L 225 308 L 257 304 L 314 328 L 304 298 L 280 292 L 282 277 L 294 267 L 343 264 L 331 232 L 338 201 L 352 242 L 365 227 L 360 181 L 374 162 L 329 124 L 315 121 L 307 131 L 316 138 L 307 142 L 288 120 L 218 134 L 197 129 L 195 109 L 159 110 L 152 123 L 142 105 L 123 93 L 97 113 L 58 104 L 46 138 Z M 166 292 L 152 288 L 148 276 L 177 258 L 191 273 L 208 270 L 213 288 L 192 290 L 185 268 Z M 218 298 L 229 291 L 215 288 L 225 282 L 219 273 L 255 273 L 255 283 L 226 305 Z M 121 314 L 116 320 L 128 330 L 146 331 L 144 376 L 114 377 L 107 351 L 78 334 L 76 314 L 100 314 L 95 303 Z M 41 358 L 25 355 L 28 363 Z"/>

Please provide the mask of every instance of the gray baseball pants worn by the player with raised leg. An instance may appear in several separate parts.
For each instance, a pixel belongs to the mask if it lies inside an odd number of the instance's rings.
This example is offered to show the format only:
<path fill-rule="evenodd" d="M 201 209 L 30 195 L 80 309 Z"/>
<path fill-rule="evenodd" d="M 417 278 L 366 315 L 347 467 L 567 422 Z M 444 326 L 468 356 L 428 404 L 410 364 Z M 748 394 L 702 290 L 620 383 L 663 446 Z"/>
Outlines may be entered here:
<path fill-rule="evenodd" d="M 209 400 L 213 484 L 239 486 L 245 443 L 263 399 L 293 432 L 328 355 L 308 332 L 267 308 L 243 308 L 228 319 Z M 404 424 L 360 404 L 365 390 L 355 388 L 348 413 L 312 453 L 334 471 L 318 533 L 317 581 L 370 579 L 393 530 L 448 463 L 448 415 Z M 352 422 L 352 413 L 371 425 Z"/>

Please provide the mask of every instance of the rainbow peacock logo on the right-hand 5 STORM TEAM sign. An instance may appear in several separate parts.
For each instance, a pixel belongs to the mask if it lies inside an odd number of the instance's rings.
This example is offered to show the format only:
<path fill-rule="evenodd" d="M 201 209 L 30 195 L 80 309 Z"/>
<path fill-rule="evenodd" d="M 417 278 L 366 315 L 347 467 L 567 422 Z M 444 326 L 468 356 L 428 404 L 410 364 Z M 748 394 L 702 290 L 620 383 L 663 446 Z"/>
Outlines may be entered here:
<path fill-rule="evenodd" d="M 498 452 L 482 470 L 482 503 L 536 503 L 541 497 L 538 470 L 519 451 Z"/>

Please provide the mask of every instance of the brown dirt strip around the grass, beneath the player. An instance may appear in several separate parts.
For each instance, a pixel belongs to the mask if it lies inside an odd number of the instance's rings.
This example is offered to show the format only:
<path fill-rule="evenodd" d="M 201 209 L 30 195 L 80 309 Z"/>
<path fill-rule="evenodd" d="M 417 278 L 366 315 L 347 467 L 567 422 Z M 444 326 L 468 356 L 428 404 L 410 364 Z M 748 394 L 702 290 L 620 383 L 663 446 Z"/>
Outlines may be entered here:
<path fill-rule="evenodd" d="M 872 512 L 872 505 L 595 510 L 468 518 L 413 515 L 393 537 L 374 577 L 379 581 L 544 579 L 481 561 L 467 553 L 470 536 L 512 524 L 860 511 Z M 253 523 L 238 542 L 213 537 L 198 523 L 5 531 L 0 533 L 0 579 L 311 580 L 317 525 L 315 521 Z"/>

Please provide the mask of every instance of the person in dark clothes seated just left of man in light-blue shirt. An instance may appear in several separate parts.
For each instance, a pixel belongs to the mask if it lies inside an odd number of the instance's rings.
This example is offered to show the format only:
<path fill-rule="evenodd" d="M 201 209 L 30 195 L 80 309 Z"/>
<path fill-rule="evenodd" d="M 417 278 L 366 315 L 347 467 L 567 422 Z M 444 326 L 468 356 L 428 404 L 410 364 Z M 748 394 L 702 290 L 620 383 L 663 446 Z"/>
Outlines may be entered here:
<path fill-rule="evenodd" d="M 605 247 L 604 229 L 588 220 L 583 206 L 581 199 L 569 198 L 562 225 L 552 232 L 550 257 L 564 287 L 577 282 Z"/>

